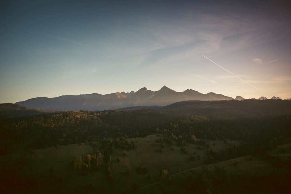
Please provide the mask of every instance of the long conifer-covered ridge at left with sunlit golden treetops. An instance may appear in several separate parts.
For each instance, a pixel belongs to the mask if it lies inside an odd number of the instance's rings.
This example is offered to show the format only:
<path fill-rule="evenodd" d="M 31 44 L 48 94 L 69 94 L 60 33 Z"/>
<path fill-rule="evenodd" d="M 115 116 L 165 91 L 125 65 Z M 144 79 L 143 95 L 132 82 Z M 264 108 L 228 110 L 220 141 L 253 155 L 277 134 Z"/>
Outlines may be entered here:
<path fill-rule="evenodd" d="M 168 111 L 68 111 L 0 120 L 1 154 L 11 153 L 10 145 L 23 144 L 26 149 L 68 145 L 102 138 L 129 138 L 155 134 L 177 118 Z M 20 148 L 19 150 L 20 151 Z M 24 151 L 24 150 L 22 150 Z"/>

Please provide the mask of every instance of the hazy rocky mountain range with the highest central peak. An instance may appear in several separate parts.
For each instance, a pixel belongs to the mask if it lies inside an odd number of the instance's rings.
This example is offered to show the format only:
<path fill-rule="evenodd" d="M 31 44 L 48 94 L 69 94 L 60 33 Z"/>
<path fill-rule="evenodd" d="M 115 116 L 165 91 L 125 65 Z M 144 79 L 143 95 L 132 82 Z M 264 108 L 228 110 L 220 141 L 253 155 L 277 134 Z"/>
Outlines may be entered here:
<path fill-rule="evenodd" d="M 185 100 L 232 100 L 232 97 L 209 92 L 202 94 L 195 90 L 187 89 L 184 92 L 176 92 L 166 86 L 158 91 L 141 88 L 137 92 L 116 92 L 112 94 L 85 94 L 64 95 L 54 98 L 37 97 L 22 102 L 16 102 L 22 106 L 52 110 L 92 110 L 118 109 L 129 106 L 166 106 Z"/>

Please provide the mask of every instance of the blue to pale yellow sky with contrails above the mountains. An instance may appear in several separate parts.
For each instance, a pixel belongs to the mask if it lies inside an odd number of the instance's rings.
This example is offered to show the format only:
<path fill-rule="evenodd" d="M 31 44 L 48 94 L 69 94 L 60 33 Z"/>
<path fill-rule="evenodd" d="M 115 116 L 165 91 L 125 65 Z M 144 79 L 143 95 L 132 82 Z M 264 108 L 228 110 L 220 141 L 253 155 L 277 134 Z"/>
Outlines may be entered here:
<path fill-rule="evenodd" d="M 290 1 L 1 1 L 0 103 L 164 85 L 291 98 Z"/>

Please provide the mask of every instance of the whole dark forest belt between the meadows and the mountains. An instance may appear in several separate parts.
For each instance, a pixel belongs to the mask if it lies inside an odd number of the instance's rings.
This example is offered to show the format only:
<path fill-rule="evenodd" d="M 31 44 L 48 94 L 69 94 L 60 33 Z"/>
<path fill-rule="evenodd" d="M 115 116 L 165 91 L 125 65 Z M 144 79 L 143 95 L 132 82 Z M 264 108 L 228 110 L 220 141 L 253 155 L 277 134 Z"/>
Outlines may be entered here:
<path fill-rule="evenodd" d="M 191 141 L 191 136 L 195 135 L 198 139 L 251 141 L 255 138 L 252 143 L 279 138 L 276 139 L 278 143 L 289 141 L 291 137 L 290 105 L 282 100 L 186 101 L 165 107 L 169 110 L 68 111 L 3 119 L 0 120 L 1 154 L 15 152 L 15 145 L 21 145 L 17 147 L 20 152 L 57 144 L 99 141 L 108 137 L 122 140 L 156 133 L 171 138 L 181 136 L 178 142 Z M 261 138 L 262 134 L 267 137 Z"/>

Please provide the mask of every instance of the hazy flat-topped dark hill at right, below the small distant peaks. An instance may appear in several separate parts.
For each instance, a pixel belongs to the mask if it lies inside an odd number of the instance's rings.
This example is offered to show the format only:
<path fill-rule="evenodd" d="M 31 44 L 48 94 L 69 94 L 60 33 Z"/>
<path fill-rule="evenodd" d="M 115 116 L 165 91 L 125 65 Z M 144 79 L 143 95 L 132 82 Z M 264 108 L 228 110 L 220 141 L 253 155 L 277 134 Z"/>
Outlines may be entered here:
<path fill-rule="evenodd" d="M 221 100 L 182 101 L 162 107 L 160 110 L 178 111 L 182 115 L 202 115 L 212 118 L 262 118 L 291 113 L 291 101 L 287 100 Z"/>

